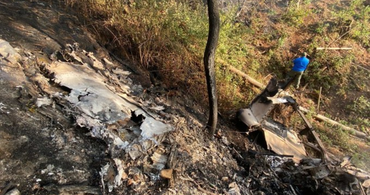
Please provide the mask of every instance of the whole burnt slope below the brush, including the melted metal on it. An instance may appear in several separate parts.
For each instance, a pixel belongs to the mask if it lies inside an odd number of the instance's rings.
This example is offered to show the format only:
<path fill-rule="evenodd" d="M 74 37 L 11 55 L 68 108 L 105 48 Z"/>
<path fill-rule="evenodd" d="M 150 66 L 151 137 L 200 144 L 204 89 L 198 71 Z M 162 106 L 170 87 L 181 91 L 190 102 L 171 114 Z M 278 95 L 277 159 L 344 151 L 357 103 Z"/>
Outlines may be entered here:
<path fill-rule="evenodd" d="M 203 106 L 111 55 L 64 1 L 0 7 L 0 195 L 368 190 L 366 174 L 259 153 L 227 119 L 210 138 Z"/>

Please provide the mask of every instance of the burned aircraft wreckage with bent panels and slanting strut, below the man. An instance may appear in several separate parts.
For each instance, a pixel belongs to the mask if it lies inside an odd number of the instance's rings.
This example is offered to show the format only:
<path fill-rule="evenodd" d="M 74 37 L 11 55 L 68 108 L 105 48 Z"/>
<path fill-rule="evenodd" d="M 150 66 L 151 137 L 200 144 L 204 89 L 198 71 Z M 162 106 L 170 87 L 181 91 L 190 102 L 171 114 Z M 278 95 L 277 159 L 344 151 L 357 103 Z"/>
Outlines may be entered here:
<path fill-rule="evenodd" d="M 369 188 L 370 175 L 350 164 L 350 156 L 340 161 L 334 155 L 329 155 L 296 100 L 285 91 L 293 79 L 278 81 L 276 77 L 272 78 L 262 93 L 256 96 L 247 108 L 240 109 L 236 113 L 239 129 L 248 132 L 261 131 L 268 150 L 275 152 L 277 156 L 290 158 L 302 170 L 309 172 L 316 181 L 320 180 L 333 189 L 334 194 L 369 194 L 369 189 L 364 190 L 364 188 Z M 310 140 L 316 141 L 315 144 L 300 140 L 292 128 L 270 116 L 277 105 L 281 104 L 292 106 L 299 114 L 306 124 L 301 132 L 306 134 L 309 132 L 307 136 L 311 137 Z M 305 147 L 318 152 L 320 159 L 309 157 Z"/>

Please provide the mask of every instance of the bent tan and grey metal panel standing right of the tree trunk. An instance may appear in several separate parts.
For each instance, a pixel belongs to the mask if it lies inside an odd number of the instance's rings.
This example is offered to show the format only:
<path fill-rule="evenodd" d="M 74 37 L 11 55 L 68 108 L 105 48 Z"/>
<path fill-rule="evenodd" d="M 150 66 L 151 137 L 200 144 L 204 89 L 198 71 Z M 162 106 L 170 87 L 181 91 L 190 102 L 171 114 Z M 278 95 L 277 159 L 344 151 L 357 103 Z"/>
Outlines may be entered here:
<path fill-rule="evenodd" d="M 306 158 L 306 151 L 296 133 L 268 118 L 277 104 L 295 103 L 295 100 L 283 91 L 286 87 L 285 81 L 278 82 L 275 78 L 271 79 L 265 90 L 252 100 L 248 108 L 238 111 L 237 118 L 249 129 L 260 126 L 269 150 L 277 154 L 293 155 L 293 160 L 298 163 L 299 160 Z"/>

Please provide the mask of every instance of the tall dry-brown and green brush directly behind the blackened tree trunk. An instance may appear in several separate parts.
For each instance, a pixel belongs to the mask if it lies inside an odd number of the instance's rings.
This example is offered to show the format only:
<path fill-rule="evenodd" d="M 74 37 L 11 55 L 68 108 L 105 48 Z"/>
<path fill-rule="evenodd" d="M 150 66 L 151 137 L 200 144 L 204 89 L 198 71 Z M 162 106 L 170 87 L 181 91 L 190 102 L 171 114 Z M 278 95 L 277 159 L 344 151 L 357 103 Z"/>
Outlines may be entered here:
<path fill-rule="evenodd" d="M 203 52 L 208 37 L 208 15 L 201 1 L 187 0 L 67 0 L 78 6 L 95 29 L 105 34 L 110 44 L 122 48 L 128 59 L 139 61 L 145 69 L 163 71 L 164 83 L 189 90 L 206 103 Z M 228 71 L 234 66 L 252 75 L 259 64 L 246 64 L 253 48 L 245 41 L 253 31 L 235 23 L 236 8 L 220 11 L 219 44 L 216 51 L 216 77 L 219 103 L 232 108 L 245 103 L 250 92 L 239 76 Z M 99 19 L 100 22 L 96 22 Z M 247 69 L 246 69 L 247 68 Z"/>

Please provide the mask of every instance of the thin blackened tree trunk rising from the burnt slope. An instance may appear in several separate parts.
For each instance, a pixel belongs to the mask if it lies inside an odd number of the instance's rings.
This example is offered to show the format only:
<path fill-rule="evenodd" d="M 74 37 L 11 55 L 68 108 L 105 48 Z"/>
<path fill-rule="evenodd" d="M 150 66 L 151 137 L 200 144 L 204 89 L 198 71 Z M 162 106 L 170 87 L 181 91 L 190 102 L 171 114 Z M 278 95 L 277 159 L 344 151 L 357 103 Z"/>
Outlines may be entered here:
<path fill-rule="evenodd" d="M 207 0 L 209 31 L 207 45 L 204 51 L 203 63 L 206 73 L 209 118 L 207 129 L 211 135 L 216 132 L 217 124 L 217 91 L 215 76 L 215 53 L 218 44 L 218 35 L 220 31 L 220 17 L 218 15 L 217 0 Z"/>

